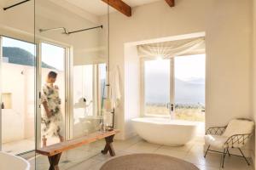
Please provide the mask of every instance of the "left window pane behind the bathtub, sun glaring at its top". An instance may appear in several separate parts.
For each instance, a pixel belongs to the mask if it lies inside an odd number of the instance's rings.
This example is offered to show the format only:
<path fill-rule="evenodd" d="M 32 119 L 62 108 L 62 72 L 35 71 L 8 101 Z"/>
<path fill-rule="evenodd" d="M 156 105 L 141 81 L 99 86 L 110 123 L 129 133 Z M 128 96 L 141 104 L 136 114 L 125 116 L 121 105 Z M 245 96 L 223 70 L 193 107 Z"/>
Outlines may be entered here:
<path fill-rule="evenodd" d="M 146 114 L 170 115 L 170 59 L 144 62 L 144 96 Z"/>

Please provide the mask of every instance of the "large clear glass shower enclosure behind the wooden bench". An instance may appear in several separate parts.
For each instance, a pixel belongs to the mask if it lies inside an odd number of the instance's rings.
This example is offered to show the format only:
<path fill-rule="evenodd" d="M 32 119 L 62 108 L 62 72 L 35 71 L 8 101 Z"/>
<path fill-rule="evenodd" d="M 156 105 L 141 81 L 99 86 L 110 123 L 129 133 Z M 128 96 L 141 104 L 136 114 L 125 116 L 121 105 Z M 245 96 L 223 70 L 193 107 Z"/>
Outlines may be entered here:
<path fill-rule="evenodd" d="M 103 5 L 107 16 L 108 5 Z M 28 158 L 32 169 L 47 169 L 47 157 L 35 153 L 44 144 L 44 88 L 57 87 L 64 140 L 98 130 L 107 77 L 108 22 L 86 15 L 82 6 L 68 0 L 0 0 L 0 7 L 0 148 Z M 49 82 L 49 72 L 57 74 L 54 83 Z M 46 139 L 46 145 L 61 142 L 58 134 Z M 101 149 L 101 144 L 89 144 L 68 150 L 60 168 Z"/>

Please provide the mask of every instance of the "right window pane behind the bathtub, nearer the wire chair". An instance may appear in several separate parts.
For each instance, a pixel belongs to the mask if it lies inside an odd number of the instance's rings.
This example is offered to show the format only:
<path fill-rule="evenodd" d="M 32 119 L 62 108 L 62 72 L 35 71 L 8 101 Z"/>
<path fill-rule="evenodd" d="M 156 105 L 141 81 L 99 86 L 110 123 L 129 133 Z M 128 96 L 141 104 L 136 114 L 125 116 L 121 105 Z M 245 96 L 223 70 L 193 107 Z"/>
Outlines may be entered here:
<path fill-rule="evenodd" d="M 205 55 L 175 58 L 175 116 L 204 122 Z"/>

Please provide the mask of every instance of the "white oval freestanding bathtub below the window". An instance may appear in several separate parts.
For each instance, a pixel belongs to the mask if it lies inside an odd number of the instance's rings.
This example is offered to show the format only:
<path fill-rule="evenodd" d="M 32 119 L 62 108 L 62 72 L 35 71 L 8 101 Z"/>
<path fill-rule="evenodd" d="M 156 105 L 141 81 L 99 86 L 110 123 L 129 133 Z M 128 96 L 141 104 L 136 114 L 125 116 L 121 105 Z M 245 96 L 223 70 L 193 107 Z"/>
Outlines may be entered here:
<path fill-rule="evenodd" d="M 196 122 L 167 118 L 136 118 L 132 125 L 137 134 L 149 143 L 179 146 L 195 137 Z"/>

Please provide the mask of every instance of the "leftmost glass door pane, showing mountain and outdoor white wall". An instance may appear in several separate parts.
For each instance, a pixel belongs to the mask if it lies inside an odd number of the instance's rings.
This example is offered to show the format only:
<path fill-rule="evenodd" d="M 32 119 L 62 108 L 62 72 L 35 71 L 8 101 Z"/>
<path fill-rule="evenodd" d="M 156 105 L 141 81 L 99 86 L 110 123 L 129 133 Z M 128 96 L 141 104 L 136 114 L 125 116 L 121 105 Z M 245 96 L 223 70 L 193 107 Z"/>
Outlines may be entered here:
<path fill-rule="evenodd" d="M 2 37 L 2 150 L 21 154 L 35 149 L 35 45 Z"/>

